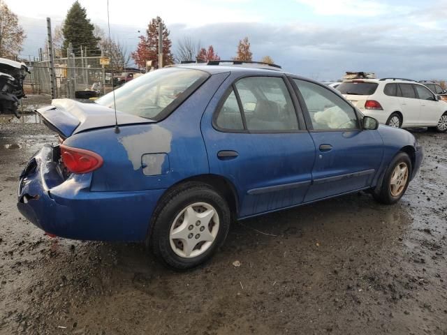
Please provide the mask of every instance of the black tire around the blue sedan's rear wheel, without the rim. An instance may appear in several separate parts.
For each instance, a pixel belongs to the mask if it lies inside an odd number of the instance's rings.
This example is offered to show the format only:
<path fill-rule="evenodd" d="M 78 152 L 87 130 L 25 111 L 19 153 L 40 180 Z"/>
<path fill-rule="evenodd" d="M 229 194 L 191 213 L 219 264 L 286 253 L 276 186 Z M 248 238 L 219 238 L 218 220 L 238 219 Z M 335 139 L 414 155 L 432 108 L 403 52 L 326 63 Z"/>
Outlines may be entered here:
<path fill-rule="evenodd" d="M 212 244 L 193 258 L 180 257 L 170 244 L 170 230 L 175 218 L 191 204 L 210 204 L 219 216 L 217 235 Z M 195 181 L 187 182 L 165 195 L 154 211 L 147 242 L 152 252 L 164 265 L 175 270 L 197 267 L 209 260 L 223 244 L 230 229 L 230 209 L 226 200 L 212 186 Z"/>

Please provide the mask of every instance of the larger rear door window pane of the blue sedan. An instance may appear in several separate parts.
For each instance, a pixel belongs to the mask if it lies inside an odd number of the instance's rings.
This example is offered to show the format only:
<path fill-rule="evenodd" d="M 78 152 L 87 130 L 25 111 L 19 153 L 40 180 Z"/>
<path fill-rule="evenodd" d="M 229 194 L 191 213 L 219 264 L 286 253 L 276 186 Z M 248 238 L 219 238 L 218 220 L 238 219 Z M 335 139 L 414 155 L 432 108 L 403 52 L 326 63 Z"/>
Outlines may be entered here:
<path fill-rule="evenodd" d="M 298 119 L 292 98 L 280 77 L 246 77 L 237 80 L 249 131 L 295 131 Z"/>

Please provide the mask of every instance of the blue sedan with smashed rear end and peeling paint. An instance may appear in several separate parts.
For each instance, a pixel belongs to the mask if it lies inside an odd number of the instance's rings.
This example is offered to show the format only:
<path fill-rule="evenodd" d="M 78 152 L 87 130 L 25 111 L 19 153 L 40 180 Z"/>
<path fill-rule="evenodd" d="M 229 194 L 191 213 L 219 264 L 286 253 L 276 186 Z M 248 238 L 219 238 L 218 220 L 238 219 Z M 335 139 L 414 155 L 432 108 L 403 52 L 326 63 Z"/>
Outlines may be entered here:
<path fill-rule="evenodd" d="M 38 113 L 59 145 L 20 175 L 20 212 L 59 237 L 145 241 L 175 269 L 234 220 L 360 190 L 394 204 L 423 159 L 411 133 L 273 66 L 172 66 Z"/>

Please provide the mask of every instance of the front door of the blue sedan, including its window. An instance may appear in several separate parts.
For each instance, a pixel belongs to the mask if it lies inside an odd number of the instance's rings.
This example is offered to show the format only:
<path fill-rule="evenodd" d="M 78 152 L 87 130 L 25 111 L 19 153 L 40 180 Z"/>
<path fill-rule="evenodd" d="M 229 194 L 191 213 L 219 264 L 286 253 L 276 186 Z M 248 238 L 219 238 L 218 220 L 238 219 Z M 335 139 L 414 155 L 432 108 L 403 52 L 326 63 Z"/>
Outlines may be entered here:
<path fill-rule="evenodd" d="M 364 131 L 353 107 L 323 85 L 293 79 L 316 147 L 305 202 L 372 186 L 381 165 L 378 131 Z"/>

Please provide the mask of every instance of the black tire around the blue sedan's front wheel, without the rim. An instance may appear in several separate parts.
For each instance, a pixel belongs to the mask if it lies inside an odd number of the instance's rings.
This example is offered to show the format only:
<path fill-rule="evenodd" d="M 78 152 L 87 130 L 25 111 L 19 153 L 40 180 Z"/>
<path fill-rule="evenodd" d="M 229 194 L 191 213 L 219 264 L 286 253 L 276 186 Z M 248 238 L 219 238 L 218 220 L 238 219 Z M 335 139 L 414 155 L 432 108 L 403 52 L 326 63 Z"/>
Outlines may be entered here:
<path fill-rule="evenodd" d="M 393 195 L 390 189 L 390 181 L 393 177 L 393 171 L 395 170 L 397 165 L 400 165 L 401 163 L 406 164 L 408 168 L 408 176 L 406 178 L 406 182 L 401 185 L 404 186 L 402 188 L 402 191 L 400 191 L 398 195 Z M 404 152 L 400 152 L 399 154 L 397 154 L 395 158 L 393 158 L 393 161 L 391 161 L 390 165 L 388 165 L 388 169 L 383 176 L 381 184 L 378 185 L 372 193 L 374 199 L 378 202 L 381 202 L 382 204 L 395 204 L 396 202 L 398 202 L 400 198 L 402 198 L 402 195 L 404 195 L 406 188 L 408 188 L 412 172 L 413 170 L 411 168 L 411 160 L 408 154 Z"/>

